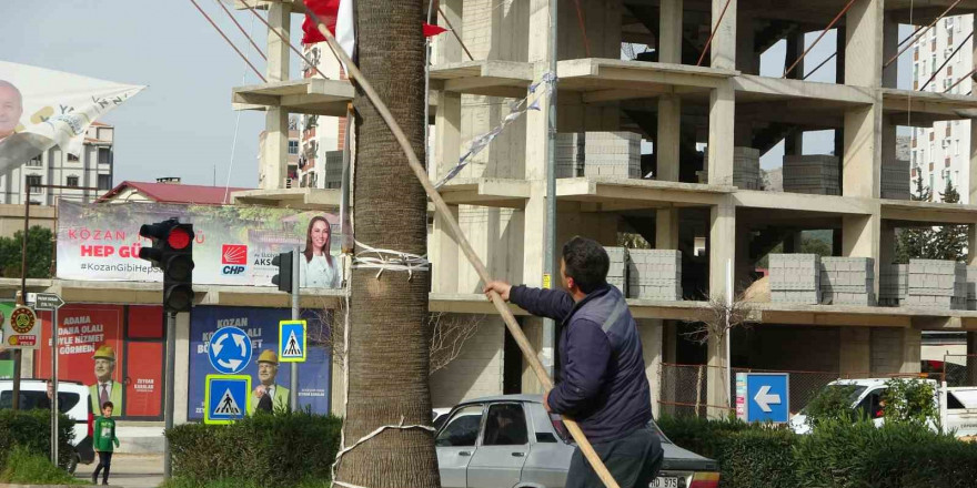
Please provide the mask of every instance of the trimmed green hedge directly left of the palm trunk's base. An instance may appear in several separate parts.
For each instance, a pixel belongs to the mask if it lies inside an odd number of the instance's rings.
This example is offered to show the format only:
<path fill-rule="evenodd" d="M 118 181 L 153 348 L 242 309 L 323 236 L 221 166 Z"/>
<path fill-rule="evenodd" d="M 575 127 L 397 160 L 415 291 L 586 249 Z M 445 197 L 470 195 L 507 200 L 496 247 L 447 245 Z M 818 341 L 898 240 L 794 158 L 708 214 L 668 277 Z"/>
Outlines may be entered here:
<path fill-rule="evenodd" d="M 211 487 L 210 482 L 229 480 L 268 486 L 270 477 L 276 487 L 298 487 L 330 478 L 341 428 L 338 417 L 281 413 L 226 426 L 187 424 L 167 430 L 167 438 L 174 476 L 190 484 L 181 487 Z M 233 484 L 234 488 L 249 486 Z"/>

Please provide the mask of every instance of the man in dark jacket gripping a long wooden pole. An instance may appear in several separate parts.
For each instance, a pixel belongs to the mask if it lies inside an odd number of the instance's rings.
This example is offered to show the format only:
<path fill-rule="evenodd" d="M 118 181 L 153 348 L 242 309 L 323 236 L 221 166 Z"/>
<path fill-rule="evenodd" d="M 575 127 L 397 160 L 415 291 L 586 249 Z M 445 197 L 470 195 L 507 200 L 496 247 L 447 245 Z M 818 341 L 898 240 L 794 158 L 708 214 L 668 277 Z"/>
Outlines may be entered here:
<path fill-rule="evenodd" d="M 580 423 L 622 488 L 646 488 L 662 466 L 662 445 L 648 426 L 652 399 L 641 337 L 624 296 L 607 284 L 608 267 L 601 244 L 574 237 L 564 244 L 560 264 L 565 291 L 492 282 L 485 293 L 561 324 L 560 375 L 543 405 Z M 601 486 L 576 449 L 566 487 Z"/>

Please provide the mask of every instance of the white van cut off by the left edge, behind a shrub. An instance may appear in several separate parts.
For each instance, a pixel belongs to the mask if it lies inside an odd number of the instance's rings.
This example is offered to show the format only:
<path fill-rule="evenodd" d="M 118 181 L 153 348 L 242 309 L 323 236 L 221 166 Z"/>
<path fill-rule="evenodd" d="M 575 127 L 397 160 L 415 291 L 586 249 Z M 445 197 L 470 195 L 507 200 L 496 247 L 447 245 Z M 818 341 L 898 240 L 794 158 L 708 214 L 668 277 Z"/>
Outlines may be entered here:
<path fill-rule="evenodd" d="M 90 435 L 93 417 L 90 405 L 88 387 L 75 382 L 58 382 L 58 409 L 74 423 L 74 439 L 71 441 L 74 446 L 74 457 L 69 466 L 64 467 L 69 472 L 74 472 L 79 462 L 89 465 L 94 461 L 95 454 L 92 449 Z M 0 380 L 0 409 L 12 407 L 13 382 L 10 379 Z M 47 382 L 43 379 L 21 379 L 19 408 L 21 410 L 50 409 Z"/>

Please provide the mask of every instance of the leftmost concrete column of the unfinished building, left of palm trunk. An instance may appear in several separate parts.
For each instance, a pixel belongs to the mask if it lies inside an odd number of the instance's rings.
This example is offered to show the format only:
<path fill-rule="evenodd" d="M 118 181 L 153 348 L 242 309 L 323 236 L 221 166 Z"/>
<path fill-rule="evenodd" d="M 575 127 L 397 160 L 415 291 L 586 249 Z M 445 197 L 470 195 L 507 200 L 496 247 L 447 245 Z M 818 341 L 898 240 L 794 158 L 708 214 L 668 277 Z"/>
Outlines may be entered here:
<path fill-rule="evenodd" d="M 268 23 L 271 29 L 289 39 L 291 29 L 291 6 L 284 2 L 272 2 L 268 9 Z M 265 78 L 270 83 L 289 79 L 289 44 L 278 34 L 268 32 L 268 68 Z M 261 171 L 259 186 L 262 190 L 285 187 L 289 175 L 289 112 L 281 108 L 270 106 L 264 118 L 265 136 L 261 152 Z"/>

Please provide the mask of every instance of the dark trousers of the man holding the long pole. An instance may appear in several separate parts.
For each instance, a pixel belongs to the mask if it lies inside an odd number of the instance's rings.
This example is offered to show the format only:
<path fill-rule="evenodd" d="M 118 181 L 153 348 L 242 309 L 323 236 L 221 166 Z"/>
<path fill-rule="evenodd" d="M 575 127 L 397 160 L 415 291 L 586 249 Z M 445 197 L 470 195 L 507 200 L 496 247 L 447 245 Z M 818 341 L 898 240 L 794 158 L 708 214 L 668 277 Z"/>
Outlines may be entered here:
<path fill-rule="evenodd" d="M 647 488 L 662 467 L 662 440 L 651 428 L 635 430 L 628 436 L 607 443 L 594 444 L 594 450 L 621 488 Z M 566 488 L 600 488 L 604 484 L 591 468 L 580 448 L 574 450 L 566 474 Z"/>

